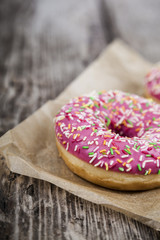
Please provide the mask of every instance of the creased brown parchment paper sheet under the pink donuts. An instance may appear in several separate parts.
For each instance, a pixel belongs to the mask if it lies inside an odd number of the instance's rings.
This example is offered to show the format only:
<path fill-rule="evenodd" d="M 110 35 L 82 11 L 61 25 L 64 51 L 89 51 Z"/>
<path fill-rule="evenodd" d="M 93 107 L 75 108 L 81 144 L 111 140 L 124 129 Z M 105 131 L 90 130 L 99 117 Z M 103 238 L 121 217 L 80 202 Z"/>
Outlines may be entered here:
<path fill-rule="evenodd" d="M 1 137 L 0 149 L 10 170 L 46 180 L 160 230 L 160 189 L 120 192 L 81 179 L 59 158 L 53 133 L 53 117 L 70 98 L 103 89 L 143 95 L 143 78 L 151 67 L 123 42 L 114 41 L 57 99 Z"/>

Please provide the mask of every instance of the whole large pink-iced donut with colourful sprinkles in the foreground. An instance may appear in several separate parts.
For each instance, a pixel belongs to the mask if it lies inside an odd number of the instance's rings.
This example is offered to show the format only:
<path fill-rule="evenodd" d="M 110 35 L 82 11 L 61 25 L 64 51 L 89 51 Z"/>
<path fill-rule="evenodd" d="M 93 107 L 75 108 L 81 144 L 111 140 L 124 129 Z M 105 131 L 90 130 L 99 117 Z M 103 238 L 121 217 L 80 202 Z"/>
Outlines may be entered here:
<path fill-rule="evenodd" d="M 72 172 L 102 187 L 160 186 L 160 106 L 121 91 L 72 99 L 55 117 L 56 144 Z"/>

